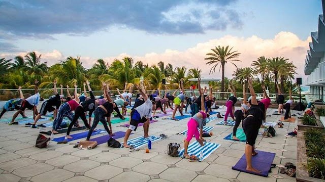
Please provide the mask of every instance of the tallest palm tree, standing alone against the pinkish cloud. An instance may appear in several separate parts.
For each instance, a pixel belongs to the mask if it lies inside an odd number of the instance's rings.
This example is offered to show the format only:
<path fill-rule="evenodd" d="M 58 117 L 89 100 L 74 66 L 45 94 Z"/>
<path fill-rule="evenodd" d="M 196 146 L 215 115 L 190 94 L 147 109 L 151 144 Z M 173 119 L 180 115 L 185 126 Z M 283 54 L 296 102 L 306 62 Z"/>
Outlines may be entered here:
<path fill-rule="evenodd" d="M 236 64 L 233 63 L 233 61 L 240 61 L 237 60 L 240 53 L 237 51 L 232 51 L 233 48 L 229 49 L 229 45 L 227 45 L 225 48 L 215 47 L 215 49 L 211 49 L 212 53 L 208 53 L 207 58 L 204 58 L 204 60 L 208 60 L 206 64 L 213 65 L 210 69 L 210 74 L 215 72 L 215 68 L 220 64 L 219 67 L 219 73 L 220 69 L 222 69 L 222 76 L 221 76 L 221 92 L 224 92 L 224 66 L 227 62 L 232 63 L 237 68 Z"/>

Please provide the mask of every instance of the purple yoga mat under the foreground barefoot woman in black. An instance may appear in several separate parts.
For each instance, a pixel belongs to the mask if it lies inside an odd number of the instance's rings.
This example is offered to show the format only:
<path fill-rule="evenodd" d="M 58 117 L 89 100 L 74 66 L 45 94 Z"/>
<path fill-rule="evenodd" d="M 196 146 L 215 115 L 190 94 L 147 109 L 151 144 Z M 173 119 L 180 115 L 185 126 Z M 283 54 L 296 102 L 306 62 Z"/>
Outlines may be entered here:
<path fill-rule="evenodd" d="M 255 169 L 261 171 L 261 173 L 255 173 L 246 170 L 245 154 L 243 154 L 243 156 L 239 159 L 237 164 L 232 167 L 232 169 L 267 177 L 269 175 L 269 170 L 271 168 L 271 164 L 273 163 L 275 153 L 264 152 L 264 151 L 256 151 L 256 152 L 258 152 L 258 154 L 252 157 L 252 166 Z"/>

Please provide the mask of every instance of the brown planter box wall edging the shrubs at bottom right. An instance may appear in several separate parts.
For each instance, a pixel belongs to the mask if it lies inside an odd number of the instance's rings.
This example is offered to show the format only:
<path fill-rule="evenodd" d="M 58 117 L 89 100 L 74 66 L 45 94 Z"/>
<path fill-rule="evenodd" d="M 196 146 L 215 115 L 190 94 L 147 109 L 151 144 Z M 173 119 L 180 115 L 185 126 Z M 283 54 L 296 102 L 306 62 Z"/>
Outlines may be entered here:
<path fill-rule="evenodd" d="M 325 182 L 324 179 L 318 179 L 309 177 L 307 165 L 307 154 L 306 154 L 306 143 L 304 131 L 298 130 L 297 134 L 297 170 L 296 170 L 296 180 L 304 182 Z"/>

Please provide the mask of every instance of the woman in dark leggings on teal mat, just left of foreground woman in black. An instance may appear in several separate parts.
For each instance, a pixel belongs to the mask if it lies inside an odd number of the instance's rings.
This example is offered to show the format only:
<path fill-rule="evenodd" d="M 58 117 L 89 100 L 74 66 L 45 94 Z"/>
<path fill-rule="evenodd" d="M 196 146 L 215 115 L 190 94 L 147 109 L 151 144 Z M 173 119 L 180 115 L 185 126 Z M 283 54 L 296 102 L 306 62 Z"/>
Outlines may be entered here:
<path fill-rule="evenodd" d="M 235 114 L 234 114 L 234 116 L 236 118 L 236 122 L 235 122 L 235 126 L 233 128 L 233 140 L 235 140 L 235 141 L 239 141 L 239 139 L 236 137 L 237 128 L 238 128 L 240 122 L 245 118 L 246 112 L 249 109 L 249 106 L 247 104 L 245 83 L 243 85 L 243 95 L 244 95 L 243 104 L 241 105 L 240 109 L 235 111 Z"/>

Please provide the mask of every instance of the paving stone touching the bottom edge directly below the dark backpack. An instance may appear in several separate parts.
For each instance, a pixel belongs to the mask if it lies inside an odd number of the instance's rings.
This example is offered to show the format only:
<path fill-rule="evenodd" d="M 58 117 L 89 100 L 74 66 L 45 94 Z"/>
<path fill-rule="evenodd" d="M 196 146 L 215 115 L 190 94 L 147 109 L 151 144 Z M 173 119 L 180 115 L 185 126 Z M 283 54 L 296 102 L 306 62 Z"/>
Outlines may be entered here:
<path fill-rule="evenodd" d="M 168 168 L 164 172 L 160 173 L 160 178 L 171 180 L 171 181 L 191 181 L 198 174 L 194 171 L 181 169 L 181 168 Z"/>

